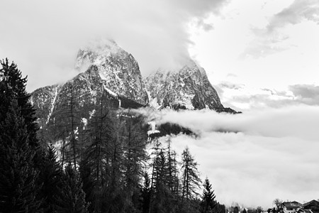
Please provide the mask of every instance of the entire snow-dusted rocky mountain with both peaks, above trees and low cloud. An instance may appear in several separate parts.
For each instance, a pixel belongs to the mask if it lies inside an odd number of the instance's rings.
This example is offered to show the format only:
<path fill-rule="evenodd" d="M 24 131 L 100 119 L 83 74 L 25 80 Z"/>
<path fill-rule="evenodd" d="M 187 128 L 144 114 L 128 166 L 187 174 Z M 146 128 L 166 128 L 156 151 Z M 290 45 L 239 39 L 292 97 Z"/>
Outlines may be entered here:
<path fill-rule="evenodd" d="M 78 107 L 86 111 L 96 104 L 102 93 L 108 94 L 114 107 L 155 109 L 213 109 L 236 113 L 223 107 L 208 80 L 205 70 L 189 60 L 181 70 L 157 70 L 143 80 L 140 67 L 133 55 L 113 40 L 82 48 L 75 62 L 77 70 L 85 70 L 65 84 L 35 89 L 31 101 L 37 109 L 41 124 L 47 124 L 62 104 L 68 102 L 70 92 Z M 84 113 L 88 117 L 88 113 Z M 87 119 L 87 118 L 86 118 Z"/>

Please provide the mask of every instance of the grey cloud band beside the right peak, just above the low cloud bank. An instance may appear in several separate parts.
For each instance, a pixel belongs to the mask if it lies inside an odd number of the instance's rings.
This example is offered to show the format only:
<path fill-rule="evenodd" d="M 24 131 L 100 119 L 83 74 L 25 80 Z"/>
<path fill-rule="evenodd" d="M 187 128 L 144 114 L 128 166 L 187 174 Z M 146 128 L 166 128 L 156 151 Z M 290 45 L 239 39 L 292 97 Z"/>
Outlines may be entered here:
<path fill-rule="evenodd" d="M 216 85 L 223 104 L 237 111 L 291 107 L 299 104 L 318 106 L 318 88 L 315 84 L 294 84 L 278 90 L 249 87 L 226 81 Z"/>

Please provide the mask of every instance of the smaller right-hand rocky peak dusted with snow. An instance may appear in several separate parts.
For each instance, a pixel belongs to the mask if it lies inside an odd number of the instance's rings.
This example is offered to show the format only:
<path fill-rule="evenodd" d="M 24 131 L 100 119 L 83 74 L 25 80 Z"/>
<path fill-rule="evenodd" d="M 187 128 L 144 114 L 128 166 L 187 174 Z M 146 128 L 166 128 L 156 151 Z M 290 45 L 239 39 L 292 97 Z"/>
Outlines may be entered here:
<path fill-rule="evenodd" d="M 178 71 L 157 70 L 145 80 L 150 106 L 224 111 L 205 70 L 194 61 Z"/>

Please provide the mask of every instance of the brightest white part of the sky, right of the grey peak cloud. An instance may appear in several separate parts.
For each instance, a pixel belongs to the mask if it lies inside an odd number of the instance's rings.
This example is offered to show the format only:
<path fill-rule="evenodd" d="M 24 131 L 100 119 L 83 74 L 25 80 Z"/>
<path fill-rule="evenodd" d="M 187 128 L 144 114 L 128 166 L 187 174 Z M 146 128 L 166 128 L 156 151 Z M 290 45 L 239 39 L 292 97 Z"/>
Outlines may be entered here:
<path fill-rule="evenodd" d="M 291 84 L 318 84 L 319 25 L 305 18 L 315 17 L 316 8 L 318 1 L 231 1 L 222 16 L 206 20 L 213 22 L 213 31 L 194 30 L 190 53 L 212 84 L 234 82 L 228 73 L 249 87 L 283 90 Z M 286 9 L 299 17 L 296 24 L 277 17 Z"/>

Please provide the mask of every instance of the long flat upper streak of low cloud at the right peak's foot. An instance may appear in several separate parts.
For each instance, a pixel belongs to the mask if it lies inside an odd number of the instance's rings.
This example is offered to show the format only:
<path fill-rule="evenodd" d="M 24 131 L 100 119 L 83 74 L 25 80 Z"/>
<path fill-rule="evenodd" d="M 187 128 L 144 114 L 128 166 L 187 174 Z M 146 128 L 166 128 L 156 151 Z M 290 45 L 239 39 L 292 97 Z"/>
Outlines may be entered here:
<path fill-rule="evenodd" d="M 171 122 L 198 133 L 225 131 L 276 138 L 319 138 L 319 107 L 307 105 L 253 110 L 235 115 L 218 114 L 211 110 L 167 110 L 158 114 L 156 119 L 157 124 Z"/>

